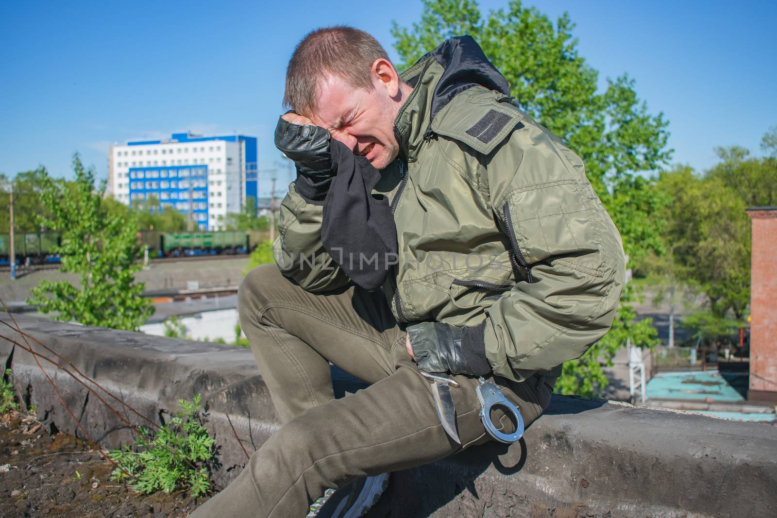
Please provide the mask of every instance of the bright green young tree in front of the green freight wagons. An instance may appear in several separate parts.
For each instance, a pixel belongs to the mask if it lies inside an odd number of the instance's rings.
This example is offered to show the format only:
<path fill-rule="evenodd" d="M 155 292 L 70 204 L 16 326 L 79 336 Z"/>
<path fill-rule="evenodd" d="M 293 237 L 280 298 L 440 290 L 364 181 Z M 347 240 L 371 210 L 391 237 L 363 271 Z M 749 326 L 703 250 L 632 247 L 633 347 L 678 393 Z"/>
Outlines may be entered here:
<path fill-rule="evenodd" d="M 61 231 L 61 271 L 78 273 L 81 287 L 65 280 L 44 280 L 30 290 L 28 304 L 42 313 L 55 312 L 58 320 L 114 329 L 137 329 L 154 308 L 141 297 L 144 283 L 135 283 L 138 221 L 133 214 L 108 214 L 103 207 L 105 183 L 95 188 L 94 171 L 73 156 L 75 181 L 44 178 L 41 199 L 51 217 L 39 223 Z"/>

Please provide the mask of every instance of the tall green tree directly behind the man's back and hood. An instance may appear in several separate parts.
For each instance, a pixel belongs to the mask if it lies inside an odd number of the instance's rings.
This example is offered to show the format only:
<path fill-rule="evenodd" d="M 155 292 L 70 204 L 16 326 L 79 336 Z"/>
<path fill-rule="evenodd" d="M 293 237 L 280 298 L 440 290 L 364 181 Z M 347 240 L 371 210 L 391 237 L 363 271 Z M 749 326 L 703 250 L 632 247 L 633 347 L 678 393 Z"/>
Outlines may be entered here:
<path fill-rule="evenodd" d="M 598 89 L 598 71 L 577 51 L 574 24 L 566 13 L 554 24 L 518 0 L 483 17 L 472 0 L 423 0 L 419 23 L 393 23 L 395 49 L 404 66 L 452 36 L 469 34 L 510 83 L 524 112 L 548 127 L 580 155 L 588 179 L 621 231 L 625 253 L 639 260 L 664 253 L 659 217 L 667 196 L 639 172 L 666 165 L 667 121 L 651 115 L 628 75 L 608 79 Z M 593 395 L 607 379 L 601 362 L 611 364 L 628 336 L 636 346 L 652 346 L 650 319 L 633 322 L 631 303 L 639 293 L 624 290 L 611 332 L 580 360 L 564 364 L 559 391 Z"/>

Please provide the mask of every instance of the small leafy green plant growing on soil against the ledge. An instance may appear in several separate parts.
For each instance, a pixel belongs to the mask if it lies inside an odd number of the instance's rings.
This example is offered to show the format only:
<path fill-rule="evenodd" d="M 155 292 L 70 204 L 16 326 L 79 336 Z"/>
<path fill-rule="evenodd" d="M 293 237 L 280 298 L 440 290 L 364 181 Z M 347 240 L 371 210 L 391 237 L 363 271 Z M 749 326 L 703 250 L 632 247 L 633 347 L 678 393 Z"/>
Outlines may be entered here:
<path fill-rule="evenodd" d="M 208 435 L 200 415 L 200 395 L 178 402 L 181 412 L 156 433 L 141 428 L 135 449 L 124 444 L 108 454 L 118 464 L 113 480 L 124 481 L 141 493 L 189 489 L 192 496 L 211 487 L 211 466 L 215 461 L 214 439 Z"/>

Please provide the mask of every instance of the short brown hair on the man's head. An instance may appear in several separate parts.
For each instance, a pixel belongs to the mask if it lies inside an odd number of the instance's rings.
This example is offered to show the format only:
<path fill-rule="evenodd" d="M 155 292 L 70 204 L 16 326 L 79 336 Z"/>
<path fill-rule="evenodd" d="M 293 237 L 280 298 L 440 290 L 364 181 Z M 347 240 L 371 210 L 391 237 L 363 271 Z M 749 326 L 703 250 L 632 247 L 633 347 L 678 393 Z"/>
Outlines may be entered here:
<path fill-rule="evenodd" d="M 354 88 L 371 90 L 370 71 L 376 59 L 389 55 L 368 33 L 349 26 L 323 27 L 308 33 L 294 48 L 286 69 L 284 105 L 301 115 L 315 110 L 321 72 Z"/>

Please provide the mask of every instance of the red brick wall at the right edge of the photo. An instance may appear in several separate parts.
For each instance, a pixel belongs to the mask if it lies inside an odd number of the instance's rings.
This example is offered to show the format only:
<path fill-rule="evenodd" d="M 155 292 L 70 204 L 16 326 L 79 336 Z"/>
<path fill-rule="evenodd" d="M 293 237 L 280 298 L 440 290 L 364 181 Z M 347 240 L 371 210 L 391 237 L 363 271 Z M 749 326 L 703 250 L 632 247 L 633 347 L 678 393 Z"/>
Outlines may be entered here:
<path fill-rule="evenodd" d="M 750 392 L 777 401 L 777 207 L 748 209 L 751 217 Z"/>

